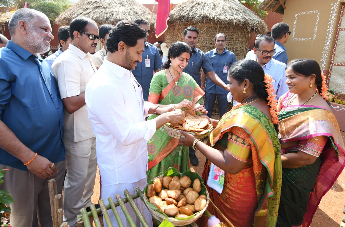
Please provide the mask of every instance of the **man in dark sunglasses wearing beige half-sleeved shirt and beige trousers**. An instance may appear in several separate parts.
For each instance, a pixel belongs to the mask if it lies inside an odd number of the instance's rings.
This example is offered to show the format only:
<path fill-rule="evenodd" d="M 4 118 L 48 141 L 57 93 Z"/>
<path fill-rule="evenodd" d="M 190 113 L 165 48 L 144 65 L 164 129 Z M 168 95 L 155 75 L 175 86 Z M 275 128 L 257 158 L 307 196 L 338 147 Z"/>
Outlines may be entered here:
<path fill-rule="evenodd" d="M 80 209 L 91 205 L 96 179 L 96 138 L 84 96 L 87 83 L 97 71 L 90 52 L 95 52 L 99 35 L 97 23 L 83 16 L 71 21 L 69 33 L 72 44 L 53 62 L 52 69 L 65 108 L 64 220 L 75 227 Z"/>

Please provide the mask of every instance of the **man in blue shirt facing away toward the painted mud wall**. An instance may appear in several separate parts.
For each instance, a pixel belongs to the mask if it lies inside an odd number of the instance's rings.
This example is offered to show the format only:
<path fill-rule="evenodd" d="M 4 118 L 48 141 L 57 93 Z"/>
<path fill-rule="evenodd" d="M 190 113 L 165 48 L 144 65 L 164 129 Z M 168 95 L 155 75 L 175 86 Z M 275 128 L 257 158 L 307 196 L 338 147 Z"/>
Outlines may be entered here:
<path fill-rule="evenodd" d="M 289 26 L 287 23 L 276 23 L 271 28 L 271 36 L 275 41 L 274 49 L 276 50 L 276 53 L 273 56 L 273 58 L 285 64 L 287 64 L 288 58 L 286 48 L 283 44 L 287 42 L 290 34 L 291 32 L 289 31 Z"/>

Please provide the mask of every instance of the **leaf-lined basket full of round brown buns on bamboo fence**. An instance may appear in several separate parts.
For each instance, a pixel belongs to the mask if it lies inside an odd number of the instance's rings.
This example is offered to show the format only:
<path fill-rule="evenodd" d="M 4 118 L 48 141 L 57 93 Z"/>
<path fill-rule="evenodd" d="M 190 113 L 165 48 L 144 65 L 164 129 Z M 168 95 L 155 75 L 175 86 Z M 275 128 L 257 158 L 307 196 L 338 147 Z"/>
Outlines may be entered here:
<path fill-rule="evenodd" d="M 144 201 L 152 216 L 160 222 L 165 218 L 174 226 L 196 221 L 209 200 L 204 181 L 196 172 L 179 173 L 172 167 L 144 188 Z"/>

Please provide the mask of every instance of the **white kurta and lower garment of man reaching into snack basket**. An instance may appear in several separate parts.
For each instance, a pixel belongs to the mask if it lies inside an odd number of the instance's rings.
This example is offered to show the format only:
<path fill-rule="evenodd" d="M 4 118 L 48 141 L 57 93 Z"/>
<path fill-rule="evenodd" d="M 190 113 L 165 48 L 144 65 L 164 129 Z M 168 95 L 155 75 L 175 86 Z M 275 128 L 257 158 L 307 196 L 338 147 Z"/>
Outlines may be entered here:
<path fill-rule="evenodd" d="M 123 198 L 124 189 L 130 194 L 136 193 L 136 186 L 144 189 L 147 184 L 147 142 L 156 131 L 156 122 L 145 121 L 153 104 L 144 101 L 139 83 L 129 70 L 105 59 L 86 87 L 85 102 L 96 135 L 101 195 L 105 204 L 110 196 L 113 201 L 116 201 L 116 194 Z M 149 211 L 140 199 L 135 201 L 150 224 Z M 129 205 L 128 208 L 135 219 L 134 211 Z M 125 216 L 120 208 L 118 211 L 125 224 Z M 111 217 L 116 226 L 114 215 Z"/>

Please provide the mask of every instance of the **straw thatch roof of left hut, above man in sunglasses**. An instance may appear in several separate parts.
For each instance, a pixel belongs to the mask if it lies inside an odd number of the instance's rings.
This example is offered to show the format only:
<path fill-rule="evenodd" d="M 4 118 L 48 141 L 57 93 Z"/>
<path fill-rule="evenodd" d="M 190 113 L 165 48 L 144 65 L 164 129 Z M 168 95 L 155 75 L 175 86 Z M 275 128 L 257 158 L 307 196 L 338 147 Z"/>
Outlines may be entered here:
<path fill-rule="evenodd" d="M 134 21 L 151 19 L 151 11 L 136 0 L 80 0 L 74 6 L 61 13 L 55 20 L 59 26 L 69 25 L 73 18 L 83 15 L 101 24 L 116 24 L 120 20 Z M 151 27 L 156 23 L 153 15 Z"/>

